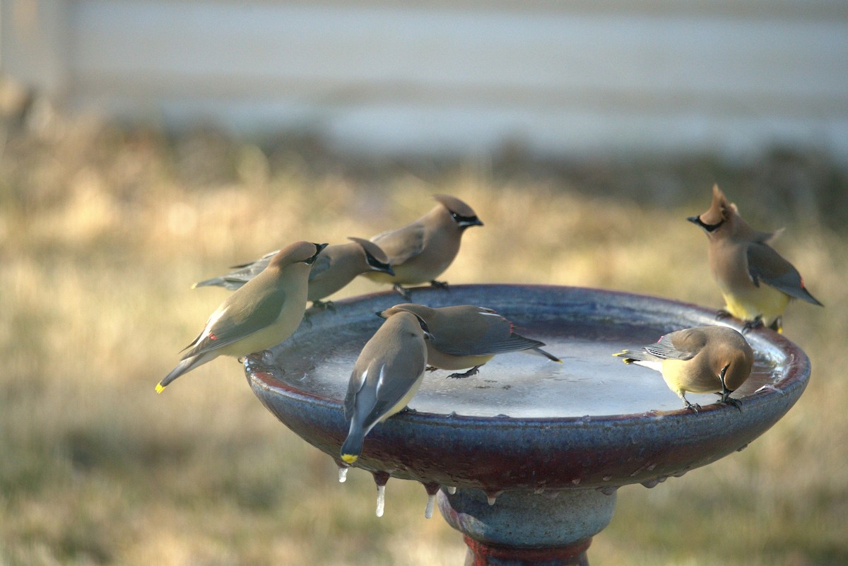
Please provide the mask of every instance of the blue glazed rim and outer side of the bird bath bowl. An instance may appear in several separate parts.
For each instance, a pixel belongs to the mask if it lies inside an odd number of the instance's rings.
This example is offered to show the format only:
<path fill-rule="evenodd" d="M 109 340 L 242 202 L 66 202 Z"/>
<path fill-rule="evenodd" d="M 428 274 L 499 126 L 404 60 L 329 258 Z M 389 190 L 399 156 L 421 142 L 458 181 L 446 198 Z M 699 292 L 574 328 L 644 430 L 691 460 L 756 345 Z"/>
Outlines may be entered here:
<path fill-rule="evenodd" d="M 584 287 L 426 287 L 415 289 L 413 300 L 431 306 L 480 304 L 510 319 L 521 317 L 531 328 L 534 321 L 577 321 L 589 327 L 621 321 L 665 333 L 715 322 L 715 311 L 691 303 Z M 335 313 L 311 314 L 312 326 L 305 331 L 373 318 L 375 311 L 397 302 L 402 301 L 392 291 L 344 299 L 336 303 Z M 810 377 L 810 362 L 801 348 L 767 329 L 752 330 L 746 338 L 781 365 L 782 375 L 773 388 L 741 397 L 741 412 L 712 404 L 700 413 L 681 408 L 526 419 L 399 413 L 371 430 L 355 467 L 384 477 L 489 492 L 656 485 L 741 450 L 801 397 Z M 275 352 L 286 347 L 284 342 Z M 301 391 L 249 359 L 245 371 L 254 393 L 277 419 L 340 463 L 338 450 L 347 434 L 341 400 Z"/>

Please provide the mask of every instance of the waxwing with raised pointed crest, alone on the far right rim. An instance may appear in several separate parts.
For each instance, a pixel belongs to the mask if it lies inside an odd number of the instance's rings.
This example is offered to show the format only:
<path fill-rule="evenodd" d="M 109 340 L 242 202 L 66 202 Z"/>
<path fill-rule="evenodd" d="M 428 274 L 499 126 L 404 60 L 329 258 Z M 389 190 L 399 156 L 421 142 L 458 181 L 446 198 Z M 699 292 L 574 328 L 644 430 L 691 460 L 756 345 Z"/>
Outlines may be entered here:
<path fill-rule="evenodd" d="M 793 298 L 823 306 L 804 286 L 798 270 L 768 245 L 778 232 L 760 232 L 739 216 L 718 186 L 712 187 L 710 208 L 688 218 L 710 240 L 710 269 L 724 297 L 719 317 L 745 321 L 745 330 L 767 325 L 783 330 L 783 314 Z"/>

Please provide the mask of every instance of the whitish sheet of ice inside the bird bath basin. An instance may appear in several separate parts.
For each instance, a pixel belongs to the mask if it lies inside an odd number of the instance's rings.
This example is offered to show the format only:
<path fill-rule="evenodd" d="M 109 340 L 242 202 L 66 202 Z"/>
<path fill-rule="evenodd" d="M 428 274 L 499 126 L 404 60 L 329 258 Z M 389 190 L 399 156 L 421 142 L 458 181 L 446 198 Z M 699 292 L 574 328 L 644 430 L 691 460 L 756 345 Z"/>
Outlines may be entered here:
<path fill-rule="evenodd" d="M 452 372 L 441 369 L 427 372 L 409 408 L 422 413 L 528 419 L 674 411 L 683 407 L 659 372 L 638 365 L 625 366 L 621 358 L 612 355 L 656 341 L 659 336 L 634 342 L 632 336 L 587 338 L 537 330 L 533 337 L 544 341 L 545 350 L 561 358 L 562 363 L 538 354 L 512 352 L 496 356 L 477 375 L 467 378 L 449 379 Z M 313 342 L 313 347 L 323 347 L 323 340 Z M 330 355 L 309 355 L 302 350 L 304 358 L 312 360 L 309 367 L 287 369 L 282 380 L 295 379 L 293 385 L 303 391 L 342 400 L 361 347 L 360 341 L 352 340 L 337 342 Z M 773 375 L 779 373 L 778 365 L 758 355 L 750 384 L 746 383 L 734 397 L 771 383 Z M 717 396 L 711 394 L 690 393 L 687 398 L 705 406 L 717 402 Z"/>

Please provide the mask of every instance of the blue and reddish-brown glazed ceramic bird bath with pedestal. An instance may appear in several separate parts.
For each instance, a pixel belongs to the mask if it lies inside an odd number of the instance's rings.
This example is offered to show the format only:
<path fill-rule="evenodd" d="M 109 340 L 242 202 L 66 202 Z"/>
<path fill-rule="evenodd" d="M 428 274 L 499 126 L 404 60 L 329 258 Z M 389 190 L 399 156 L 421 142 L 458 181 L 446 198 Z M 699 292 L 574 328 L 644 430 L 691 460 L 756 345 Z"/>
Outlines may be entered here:
<path fill-rule="evenodd" d="M 466 564 L 586 564 L 592 536 L 612 519 L 616 490 L 656 486 L 762 435 L 801 396 L 804 352 L 772 330 L 746 338 L 752 374 L 734 393 L 739 409 L 692 395 L 683 408 L 659 373 L 612 356 L 672 330 L 715 323 L 715 311 L 656 297 L 560 286 L 471 285 L 416 289 L 431 307 L 494 308 L 563 363 L 515 352 L 478 375 L 427 374 L 408 412 L 365 437 L 354 467 L 421 482 L 465 535 Z M 310 312 L 270 361 L 245 362 L 259 400 L 341 467 L 348 432 L 342 402 L 361 347 L 381 325 L 375 312 L 403 302 L 392 292 Z M 739 326 L 736 326 L 739 330 Z M 343 474 L 340 475 L 343 478 Z M 382 493 L 382 490 L 381 490 Z"/>

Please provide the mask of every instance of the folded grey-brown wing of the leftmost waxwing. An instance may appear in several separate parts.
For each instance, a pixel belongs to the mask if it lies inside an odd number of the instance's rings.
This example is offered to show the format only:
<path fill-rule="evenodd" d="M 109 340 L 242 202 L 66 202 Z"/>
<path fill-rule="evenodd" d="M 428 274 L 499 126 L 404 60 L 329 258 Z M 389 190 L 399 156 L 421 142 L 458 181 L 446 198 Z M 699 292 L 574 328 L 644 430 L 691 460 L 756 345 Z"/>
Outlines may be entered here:
<path fill-rule="evenodd" d="M 251 302 L 242 312 L 227 309 L 217 319 L 209 319 L 206 330 L 198 336 L 200 339 L 183 359 L 224 347 L 262 330 L 276 320 L 285 303 L 286 291 L 275 286 L 258 297 L 257 301 Z"/>

